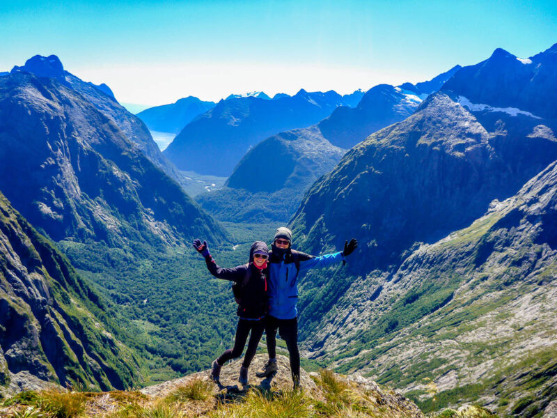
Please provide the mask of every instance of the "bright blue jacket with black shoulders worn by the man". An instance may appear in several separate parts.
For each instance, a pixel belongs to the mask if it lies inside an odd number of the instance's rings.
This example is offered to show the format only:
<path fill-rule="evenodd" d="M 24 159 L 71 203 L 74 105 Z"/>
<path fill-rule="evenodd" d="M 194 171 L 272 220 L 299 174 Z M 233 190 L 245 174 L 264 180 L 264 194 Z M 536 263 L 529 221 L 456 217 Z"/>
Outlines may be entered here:
<path fill-rule="evenodd" d="M 296 252 L 299 271 L 296 268 Z M 278 256 L 269 251 L 269 315 L 278 319 L 292 319 L 298 316 L 298 276 L 312 268 L 324 268 L 344 261 L 342 251 L 324 256 L 310 256 L 299 251 L 288 251 Z"/>

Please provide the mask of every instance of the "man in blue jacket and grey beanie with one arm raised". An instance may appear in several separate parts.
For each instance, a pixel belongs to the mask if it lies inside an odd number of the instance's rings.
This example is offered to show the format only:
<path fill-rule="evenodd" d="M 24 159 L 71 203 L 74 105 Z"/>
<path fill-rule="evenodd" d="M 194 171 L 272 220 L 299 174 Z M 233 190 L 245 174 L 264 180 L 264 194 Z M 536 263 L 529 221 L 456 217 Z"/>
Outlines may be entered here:
<path fill-rule="evenodd" d="M 310 256 L 292 249 L 292 231 L 281 227 L 276 230 L 269 252 L 269 314 L 265 323 L 269 362 L 257 376 L 269 376 L 276 368 L 276 330 L 285 341 L 290 354 L 290 369 L 295 389 L 300 379 L 300 354 L 298 350 L 298 276 L 313 268 L 324 268 L 345 263 L 345 256 L 352 254 L 358 242 L 352 238 L 345 242 L 344 250 L 324 256 Z"/>

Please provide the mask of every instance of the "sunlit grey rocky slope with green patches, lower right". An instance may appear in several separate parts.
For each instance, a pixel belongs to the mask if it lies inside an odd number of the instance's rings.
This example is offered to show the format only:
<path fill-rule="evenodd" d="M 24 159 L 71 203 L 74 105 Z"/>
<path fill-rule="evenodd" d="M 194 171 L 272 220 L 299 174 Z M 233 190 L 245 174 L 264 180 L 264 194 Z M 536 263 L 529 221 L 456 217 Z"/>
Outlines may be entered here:
<path fill-rule="evenodd" d="M 392 273 L 354 281 L 316 332 L 317 352 L 396 385 L 426 411 L 425 376 L 439 402 L 481 398 L 501 416 L 541 416 L 557 401 L 556 219 L 554 162 Z"/>

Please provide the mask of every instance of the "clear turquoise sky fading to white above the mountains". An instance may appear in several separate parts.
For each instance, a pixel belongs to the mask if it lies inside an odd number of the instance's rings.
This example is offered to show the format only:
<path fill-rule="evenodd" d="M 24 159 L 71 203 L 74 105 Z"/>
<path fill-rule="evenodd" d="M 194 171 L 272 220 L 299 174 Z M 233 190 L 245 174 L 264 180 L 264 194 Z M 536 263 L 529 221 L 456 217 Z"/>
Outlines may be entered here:
<path fill-rule="evenodd" d="M 556 1 L 2 1 L 0 71 L 56 54 L 120 102 L 430 79 L 557 42 Z"/>

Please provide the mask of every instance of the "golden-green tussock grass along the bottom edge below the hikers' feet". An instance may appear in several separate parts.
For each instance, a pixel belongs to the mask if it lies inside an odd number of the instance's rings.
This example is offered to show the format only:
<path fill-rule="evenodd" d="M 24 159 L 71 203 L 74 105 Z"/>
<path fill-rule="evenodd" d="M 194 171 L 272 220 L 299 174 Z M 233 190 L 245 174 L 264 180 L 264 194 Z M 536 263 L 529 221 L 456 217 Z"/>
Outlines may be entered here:
<path fill-rule="evenodd" d="M 194 379 L 164 397 L 134 391 L 24 392 L 11 398 L 8 418 L 415 418 L 407 405 L 389 404 L 384 393 L 356 385 L 329 370 L 312 375 L 317 391 L 214 392 Z M 483 418 L 483 417 L 482 417 Z"/>

